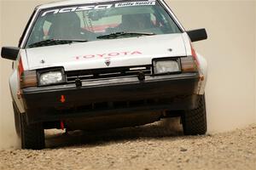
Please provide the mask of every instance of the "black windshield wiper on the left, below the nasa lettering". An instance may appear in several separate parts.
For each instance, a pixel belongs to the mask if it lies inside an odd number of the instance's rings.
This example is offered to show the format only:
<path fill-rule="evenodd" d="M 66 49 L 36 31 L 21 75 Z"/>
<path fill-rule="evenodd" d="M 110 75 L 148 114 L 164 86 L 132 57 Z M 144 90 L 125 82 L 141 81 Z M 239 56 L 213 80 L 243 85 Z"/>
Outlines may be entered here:
<path fill-rule="evenodd" d="M 30 44 L 29 48 L 36 48 L 36 47 L 44 47 L 44 46 L 50 46 L 50 45 L 60 45 L 60 44 L 67 44 L 67 43 L 73 43 L 73 42 L 88 42 L 88 40 L 83 39 L 48 39 L 41 42 L 35 42 Z"/>

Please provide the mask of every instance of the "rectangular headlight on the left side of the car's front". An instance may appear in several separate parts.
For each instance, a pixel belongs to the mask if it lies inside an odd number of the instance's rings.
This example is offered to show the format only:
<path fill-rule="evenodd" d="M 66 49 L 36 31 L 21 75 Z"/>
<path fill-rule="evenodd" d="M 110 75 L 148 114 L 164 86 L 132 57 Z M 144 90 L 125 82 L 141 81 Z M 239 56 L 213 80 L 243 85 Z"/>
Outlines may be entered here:
<path fill-rule="evenodd" d="M 58 84 L 65 82 L 64 71 L 55 70 L 55 71 L 41 71 L 38 73 L 39 85 L 49 85 L 49 84 Z"/>

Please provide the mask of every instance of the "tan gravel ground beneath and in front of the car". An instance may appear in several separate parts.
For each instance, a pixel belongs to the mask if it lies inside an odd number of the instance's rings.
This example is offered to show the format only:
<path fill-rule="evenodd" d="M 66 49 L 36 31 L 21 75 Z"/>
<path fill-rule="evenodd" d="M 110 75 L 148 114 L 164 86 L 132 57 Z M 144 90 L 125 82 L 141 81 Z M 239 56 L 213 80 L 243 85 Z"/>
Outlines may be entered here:
<path fill-rule="evenodd" d="M 0 169 L 256 169 L 256 124 L 183 136 L 168 122 L 84 133 L 48 132 L 45 150 L 0 150 Z"/>

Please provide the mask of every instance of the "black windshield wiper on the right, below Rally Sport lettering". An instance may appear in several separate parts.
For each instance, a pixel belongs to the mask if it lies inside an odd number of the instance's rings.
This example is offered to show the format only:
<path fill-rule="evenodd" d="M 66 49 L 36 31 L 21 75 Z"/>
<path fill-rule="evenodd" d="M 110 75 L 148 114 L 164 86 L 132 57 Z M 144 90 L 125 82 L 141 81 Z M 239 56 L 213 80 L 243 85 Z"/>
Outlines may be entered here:
<path fill-rule="evenodd" d="M 138 37 L 138 36 L 153 36 L 153 32 L 131 32 L 131 31 L 119 31 L 108 35 L 98 36 L 98 39 L 114 39 L 118 37 Z"/>

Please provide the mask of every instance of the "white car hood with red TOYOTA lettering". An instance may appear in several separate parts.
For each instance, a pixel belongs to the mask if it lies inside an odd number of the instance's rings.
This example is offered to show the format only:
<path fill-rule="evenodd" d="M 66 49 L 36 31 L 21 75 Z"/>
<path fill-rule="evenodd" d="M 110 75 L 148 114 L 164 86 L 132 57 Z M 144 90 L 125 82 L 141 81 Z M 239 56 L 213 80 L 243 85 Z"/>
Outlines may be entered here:
<path fill-rule="evenodd" d="M 183 34 L 129 37 L 27 48 L 29 70 L 63 66 L 65 71 L 149 65 L 154 58 L 185 56 Z"/>

